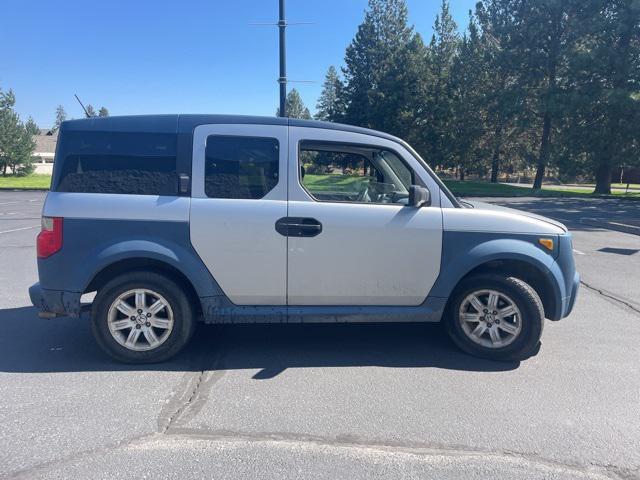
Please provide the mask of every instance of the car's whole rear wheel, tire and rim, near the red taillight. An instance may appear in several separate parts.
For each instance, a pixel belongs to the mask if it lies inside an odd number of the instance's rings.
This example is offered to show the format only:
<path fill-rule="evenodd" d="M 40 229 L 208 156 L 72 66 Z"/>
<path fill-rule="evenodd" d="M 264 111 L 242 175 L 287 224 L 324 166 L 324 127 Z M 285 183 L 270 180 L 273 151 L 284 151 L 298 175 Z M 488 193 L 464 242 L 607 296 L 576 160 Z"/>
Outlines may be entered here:
<path fill-rule="evenodd" d="M 177 354 L 194 329 L 184 291 L 154 272 L 119 276 L 93 302 L 92 327 L 100 347 L 127 363 L 153 363 Z"/>

